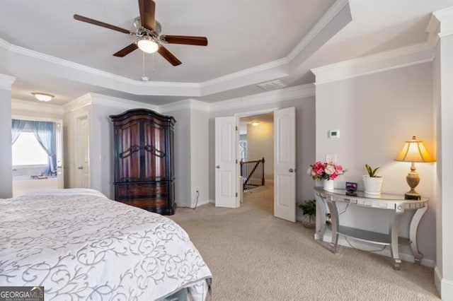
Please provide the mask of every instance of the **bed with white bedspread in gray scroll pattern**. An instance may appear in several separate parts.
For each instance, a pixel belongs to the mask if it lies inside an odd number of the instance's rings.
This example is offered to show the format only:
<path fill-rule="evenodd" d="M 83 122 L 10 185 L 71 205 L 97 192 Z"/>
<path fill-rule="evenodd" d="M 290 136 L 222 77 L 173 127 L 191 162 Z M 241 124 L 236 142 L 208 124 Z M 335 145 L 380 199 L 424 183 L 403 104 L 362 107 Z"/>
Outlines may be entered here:
<path fill-rule="evenodd" d="M 0 286 L 44 286 L 45 300 L 201 301 L 211 282 L 187 233 L 159 214 L 91 189 L 0 199 Z"/>

